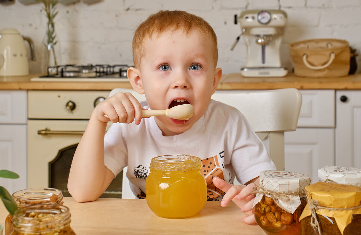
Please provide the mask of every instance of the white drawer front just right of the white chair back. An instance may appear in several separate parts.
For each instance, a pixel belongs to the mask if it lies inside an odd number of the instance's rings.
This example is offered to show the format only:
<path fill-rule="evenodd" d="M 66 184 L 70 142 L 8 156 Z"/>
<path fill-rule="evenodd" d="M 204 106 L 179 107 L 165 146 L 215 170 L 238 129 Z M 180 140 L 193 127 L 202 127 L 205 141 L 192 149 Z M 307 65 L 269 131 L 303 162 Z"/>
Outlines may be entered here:
<path fill-rule="evenodd" d="M 300 90 L 302 106 L 297 127 L 335 127 L 335 90 Z"/>

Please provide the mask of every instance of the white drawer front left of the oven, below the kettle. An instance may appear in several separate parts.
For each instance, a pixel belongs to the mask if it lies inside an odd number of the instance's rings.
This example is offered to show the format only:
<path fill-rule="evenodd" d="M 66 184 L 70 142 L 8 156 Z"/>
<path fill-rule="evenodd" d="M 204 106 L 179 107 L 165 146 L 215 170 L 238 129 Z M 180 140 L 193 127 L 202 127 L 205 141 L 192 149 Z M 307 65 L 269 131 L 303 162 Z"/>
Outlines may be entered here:
<path fill-rule="evenodd" d="M 26 90 L 0 91 L 0 123 L 26 124 Z"/>

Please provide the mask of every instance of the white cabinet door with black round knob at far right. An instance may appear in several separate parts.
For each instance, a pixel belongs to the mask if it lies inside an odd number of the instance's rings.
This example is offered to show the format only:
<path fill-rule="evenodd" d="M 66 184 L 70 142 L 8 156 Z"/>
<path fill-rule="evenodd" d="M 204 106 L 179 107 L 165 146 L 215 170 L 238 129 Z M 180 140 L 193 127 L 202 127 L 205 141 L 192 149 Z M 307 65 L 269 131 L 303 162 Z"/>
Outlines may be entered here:
<path fill-rule="evenodd" d="M 336 91 L 336 165 L 361 169 L 361 91 Z"/>

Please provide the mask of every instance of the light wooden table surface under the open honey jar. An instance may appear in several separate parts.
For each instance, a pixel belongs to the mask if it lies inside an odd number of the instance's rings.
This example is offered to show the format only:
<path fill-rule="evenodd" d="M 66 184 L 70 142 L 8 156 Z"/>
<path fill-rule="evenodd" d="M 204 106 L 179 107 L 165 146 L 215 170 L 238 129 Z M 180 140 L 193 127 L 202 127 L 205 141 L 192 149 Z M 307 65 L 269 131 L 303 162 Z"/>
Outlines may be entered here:
<path fill-rule="evenodd" d="M 207 201 L 196 215 L 185 219 L 166 219 L 156 216 L 142 199 L 106 199 L 78 203 L 73 198 L 64 198 L 70 208 L 70 226 L 77 235 L 112 234 L 262 234 L 257 225 L 242 221 L 245 214 L 231 202 L 221 207 L 219 201 Z M 5 223 L 8 214 L 0 203 L 0 223 Z"/>

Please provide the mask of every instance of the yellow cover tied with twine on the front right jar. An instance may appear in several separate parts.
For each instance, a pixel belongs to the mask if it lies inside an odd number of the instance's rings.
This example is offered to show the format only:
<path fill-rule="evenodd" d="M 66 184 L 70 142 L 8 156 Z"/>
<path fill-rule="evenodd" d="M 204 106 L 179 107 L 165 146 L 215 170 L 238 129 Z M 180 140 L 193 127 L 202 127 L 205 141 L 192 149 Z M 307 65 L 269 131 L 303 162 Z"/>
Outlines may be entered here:
<path fill-rule="evenodd" d="M 345 227 L 352 222 L 352 216 L 361 214 L 361 188 L 358 186 L 317 182 L 310 186 L 307 186 L 306 193 L 308 197 L 308 204 L 306 205 L 305 209 L 301 214 L 300 221 L 308 216 L 312 216 L 310 208 L 313 208 L 312 210 L 315 212 L 315 216 L 316 214 L 319 214 L 322 216 L 334 218 L 341 234 L 344 234 Z M 311 207 L 310 204 L 312 204 Z M 307 224 L 308 226 L 311 226 L 309 225 L 309 223 Z M 316 220 L 316 225 L 317 224 L 320 225 L 319 222 Z M 303 234 L 307 234 L 304 233 L 306 232 L 304 231 L 304 224 L 302 225 Z M 358 227 L 358 231 L 360 231 L 361 225 L 358 225 Z M 330 228 L 327 227 L 327 229 Z M 310 229 L 310 231 L 313 230 L 317 231 L 318 228 L 314 227 Z"/>

